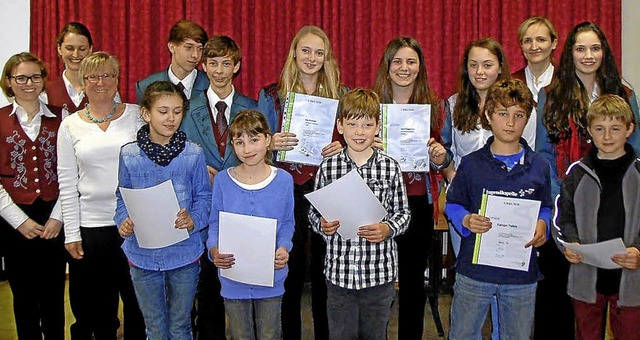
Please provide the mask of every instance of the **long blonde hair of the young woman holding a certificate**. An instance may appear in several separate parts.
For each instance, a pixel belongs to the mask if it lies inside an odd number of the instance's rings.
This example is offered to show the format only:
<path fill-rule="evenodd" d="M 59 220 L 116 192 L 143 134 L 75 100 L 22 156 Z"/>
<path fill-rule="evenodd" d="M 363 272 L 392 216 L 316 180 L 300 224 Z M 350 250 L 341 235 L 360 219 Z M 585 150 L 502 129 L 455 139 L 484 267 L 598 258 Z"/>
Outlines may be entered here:
<path fill-rule="evenodd" d="M 293 37 L 293 40 L 291 40 L 287 60 L 280 74 L 278 91 L 281 96 L 286 95 L 287 92 L 305 93 L 304 86 L 300 80 L 300 70 L 298 70 L 298 66 L 296 65 L 296 48 L 300 40 L 309 34 L 317 36 L 324 42 L 324 63 L 320 71 L 318 71 L 318 82 L 313 94 L 320 97 L 338 99 L 341 92 L 338 61 L 333 56 L 329 37 L 327 37 L 327 34 L 318 26 L 302 27 L 295 37 Z"/>

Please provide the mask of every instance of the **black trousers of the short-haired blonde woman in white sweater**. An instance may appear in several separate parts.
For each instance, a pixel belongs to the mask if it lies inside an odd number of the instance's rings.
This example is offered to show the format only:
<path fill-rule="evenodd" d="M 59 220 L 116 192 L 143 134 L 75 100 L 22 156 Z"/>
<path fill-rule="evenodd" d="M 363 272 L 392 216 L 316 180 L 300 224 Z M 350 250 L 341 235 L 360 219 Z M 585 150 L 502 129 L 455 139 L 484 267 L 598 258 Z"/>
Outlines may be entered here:
<path fill-rule="evenodd" d="M 118 297 L 122 298 L 124 338 L 146 339 L 129 265 L 115 226 L 80 228 L 84 257 L 69 261 L 69 299 L 76 322 L 73 340 L 116 339 Z"/>

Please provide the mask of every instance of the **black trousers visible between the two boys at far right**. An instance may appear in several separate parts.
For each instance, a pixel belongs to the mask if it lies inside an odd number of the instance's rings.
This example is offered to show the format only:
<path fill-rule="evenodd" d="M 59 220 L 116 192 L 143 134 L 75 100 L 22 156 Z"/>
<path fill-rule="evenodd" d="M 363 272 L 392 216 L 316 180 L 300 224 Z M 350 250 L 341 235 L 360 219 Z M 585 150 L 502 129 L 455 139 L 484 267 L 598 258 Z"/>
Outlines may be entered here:
<path fill-rule="evenodd" d="M 534 339 L 574 339 L 573 308 L 567 294 L 569 262 L 553 240 L 538 248 L 538 254 L 538 268 L 544 278 L 538 281 L 536 291 Z"/>

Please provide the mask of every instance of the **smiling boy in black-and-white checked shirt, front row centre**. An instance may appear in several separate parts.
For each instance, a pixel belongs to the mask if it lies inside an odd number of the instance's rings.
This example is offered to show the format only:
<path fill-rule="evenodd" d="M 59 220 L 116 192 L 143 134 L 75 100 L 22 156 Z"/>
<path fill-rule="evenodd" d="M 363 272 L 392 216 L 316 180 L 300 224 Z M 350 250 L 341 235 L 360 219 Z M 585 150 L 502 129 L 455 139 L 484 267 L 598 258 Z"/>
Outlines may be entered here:
<path fill-rule="evenodd" d="M 387 210 L 380 222 L 359 227 L 358 239 L 343 240 L 340 221 L 327 222 L 314 209 L 309 220 L 327 242 L 325 277 L 330 339 L 386 339 L 395 295 L 394 237 L 409 226 L 407 193 L 398 163 L 372 147 L 380 128 L 380 102 L 369 90 L 354 89 L 340 99 L 338 131 L 347 147 L 325 159 L 315 189 L 357 170 Z"/>

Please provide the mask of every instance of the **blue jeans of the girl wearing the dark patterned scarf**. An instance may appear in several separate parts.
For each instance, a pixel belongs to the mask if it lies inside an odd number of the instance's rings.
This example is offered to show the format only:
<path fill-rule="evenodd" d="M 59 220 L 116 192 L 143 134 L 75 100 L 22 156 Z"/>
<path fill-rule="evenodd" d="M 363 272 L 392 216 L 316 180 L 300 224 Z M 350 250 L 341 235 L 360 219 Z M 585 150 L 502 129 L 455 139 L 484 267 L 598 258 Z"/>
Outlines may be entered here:
<path fill-rule="evenodd" d="M 131 279 L 149 340 L 193 339 L 191 307 L 200 264 L 158 271 L 131 266 Z"/>

